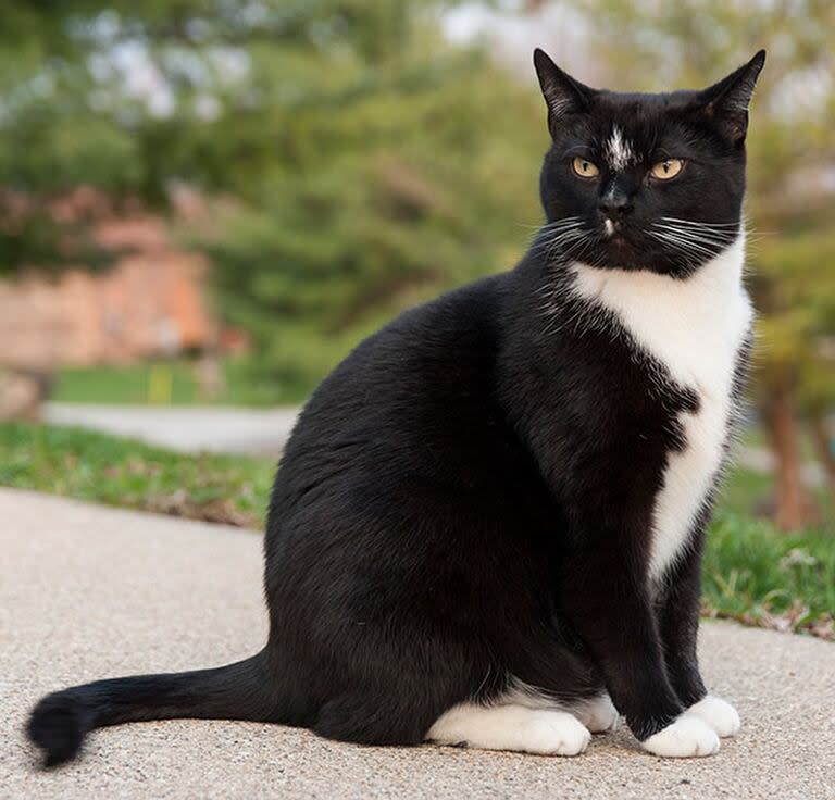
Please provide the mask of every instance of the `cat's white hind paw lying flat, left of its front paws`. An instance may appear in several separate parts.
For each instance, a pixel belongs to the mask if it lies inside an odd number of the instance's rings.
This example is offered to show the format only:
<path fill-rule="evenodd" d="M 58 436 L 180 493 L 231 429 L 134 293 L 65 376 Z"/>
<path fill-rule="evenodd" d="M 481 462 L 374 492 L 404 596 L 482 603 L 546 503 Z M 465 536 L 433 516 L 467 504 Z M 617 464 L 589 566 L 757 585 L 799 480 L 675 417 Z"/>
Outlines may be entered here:
<path fill-rule="evenodd" d="M 441 714 L 426 739 L 483 750 L 578 755 L 588 747 L 591 734 L 565 711 L 465 702 Z"/>

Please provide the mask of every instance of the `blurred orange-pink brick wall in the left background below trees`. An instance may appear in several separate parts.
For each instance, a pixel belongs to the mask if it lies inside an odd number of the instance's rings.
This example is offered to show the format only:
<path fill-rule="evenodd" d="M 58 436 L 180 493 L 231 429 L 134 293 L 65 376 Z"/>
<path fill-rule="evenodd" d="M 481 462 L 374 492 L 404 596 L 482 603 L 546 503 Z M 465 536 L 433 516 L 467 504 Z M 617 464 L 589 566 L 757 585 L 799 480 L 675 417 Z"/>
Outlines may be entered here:
<path fill-rule="evenodd" d="M 132 251 L 101 274 L 0 280 L 0 365 L 120 363 L 216 341 L 200 255 L 171 248 L 150 217 L 111 220 L 96 238 Z"/>

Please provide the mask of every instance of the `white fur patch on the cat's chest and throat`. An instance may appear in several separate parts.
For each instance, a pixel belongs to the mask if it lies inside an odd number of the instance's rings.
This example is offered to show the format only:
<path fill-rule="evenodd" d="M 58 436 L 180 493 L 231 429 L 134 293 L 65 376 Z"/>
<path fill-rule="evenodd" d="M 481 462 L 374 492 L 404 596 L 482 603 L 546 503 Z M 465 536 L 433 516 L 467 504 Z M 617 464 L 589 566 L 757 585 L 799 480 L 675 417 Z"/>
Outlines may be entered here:
<path fill-rule="evenodd" d="M 573 266 L 575 291 L 614 312 L 638 347 L 699 398 L 698 412 L 682 415 L 686 443 L 670 454 L 656 497 L 649 563 L 653 579 L 663 576 L 685 547 L 722 463 L 736 358 L 752 318 L 741 283 L 744 250 L 740 235 L 684 280 Z"/>

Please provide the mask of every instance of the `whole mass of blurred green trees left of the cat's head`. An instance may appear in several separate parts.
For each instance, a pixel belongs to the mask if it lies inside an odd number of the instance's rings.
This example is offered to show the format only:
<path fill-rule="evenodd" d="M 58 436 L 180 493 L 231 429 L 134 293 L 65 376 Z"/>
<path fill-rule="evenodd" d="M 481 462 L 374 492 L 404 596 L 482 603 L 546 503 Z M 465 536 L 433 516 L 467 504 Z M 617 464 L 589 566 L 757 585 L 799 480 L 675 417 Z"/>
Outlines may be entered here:
<path fill-rule="evenodd" d="M 0 186 L 230 198 L 191 241 L 261 372 L 309 389 L 399 308 L 510 265 L 539 218 L 539 102 L 443 40 L 449 4 L 13 0 Z M 62 240 L 27 220 L 0 270 Z"/>

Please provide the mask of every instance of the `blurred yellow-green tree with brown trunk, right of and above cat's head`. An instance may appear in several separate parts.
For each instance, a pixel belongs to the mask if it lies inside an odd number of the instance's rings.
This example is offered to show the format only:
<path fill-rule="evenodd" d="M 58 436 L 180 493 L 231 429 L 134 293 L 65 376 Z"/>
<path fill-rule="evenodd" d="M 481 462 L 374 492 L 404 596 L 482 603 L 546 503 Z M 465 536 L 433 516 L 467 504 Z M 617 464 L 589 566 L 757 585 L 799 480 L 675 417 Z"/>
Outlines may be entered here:
<path fill-rule="evenodd" d="M 707 86 L 759 48 L 769 51 L 748 147 L 747 216 L 761 232 L 749 236 L 749 286 L 760 312 L 753 390 L 777 457 L 775 518 L 784 528 L 800 527 L 817 512 L 801 479 L 798 416 L 814 422 L 827 463 L 825 420 L 835 409 L 835 4 L 589 0 L 576 7 L 613 89 Z"/>

